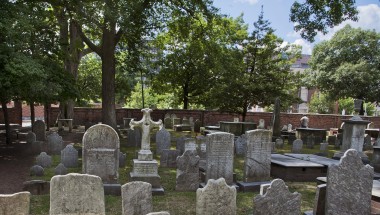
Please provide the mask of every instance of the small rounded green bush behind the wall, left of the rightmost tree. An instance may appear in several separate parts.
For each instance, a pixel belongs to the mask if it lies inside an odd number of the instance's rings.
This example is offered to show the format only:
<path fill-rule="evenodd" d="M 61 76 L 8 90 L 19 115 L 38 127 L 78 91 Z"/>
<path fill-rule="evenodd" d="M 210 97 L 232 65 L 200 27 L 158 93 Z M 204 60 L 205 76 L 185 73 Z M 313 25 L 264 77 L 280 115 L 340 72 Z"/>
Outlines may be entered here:
<path fill-rule="evenodd" d="M 310 113 L 333 113 L 335 102 L 323 93 L 314 93 L 309 103 Z"/>

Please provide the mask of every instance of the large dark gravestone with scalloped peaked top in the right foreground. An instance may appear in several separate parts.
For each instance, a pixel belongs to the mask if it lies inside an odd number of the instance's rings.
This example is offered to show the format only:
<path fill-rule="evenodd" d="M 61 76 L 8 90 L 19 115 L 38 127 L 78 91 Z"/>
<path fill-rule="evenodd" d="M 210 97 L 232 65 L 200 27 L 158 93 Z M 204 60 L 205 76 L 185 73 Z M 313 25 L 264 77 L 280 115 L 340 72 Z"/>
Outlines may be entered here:
<path fill-rule="evenodd" d="M 347 150 L 327 172 L 326 214 L 370 214 L 373 168 L 363 165 L 358 151 Z"/>

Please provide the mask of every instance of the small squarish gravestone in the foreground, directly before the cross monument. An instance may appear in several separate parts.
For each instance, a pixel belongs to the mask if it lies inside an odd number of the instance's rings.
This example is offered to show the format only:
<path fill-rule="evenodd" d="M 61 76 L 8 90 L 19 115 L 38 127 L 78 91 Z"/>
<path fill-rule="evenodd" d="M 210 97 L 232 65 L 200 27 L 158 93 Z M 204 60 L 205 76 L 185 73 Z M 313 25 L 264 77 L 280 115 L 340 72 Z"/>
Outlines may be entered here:
<path fill-rule="evenodd" d="M 123 215 L 145 215 L 153 210 L 152 185 L 133 181 L 121 186 Z"/>

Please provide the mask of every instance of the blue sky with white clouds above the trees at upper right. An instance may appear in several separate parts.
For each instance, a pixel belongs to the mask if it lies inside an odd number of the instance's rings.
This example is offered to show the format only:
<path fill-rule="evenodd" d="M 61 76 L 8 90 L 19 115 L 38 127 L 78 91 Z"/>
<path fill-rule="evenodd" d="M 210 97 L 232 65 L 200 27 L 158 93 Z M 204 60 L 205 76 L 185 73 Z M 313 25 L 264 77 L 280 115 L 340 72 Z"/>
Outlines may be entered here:
<path fill-rule="evenodd" d="M 242 13 L 245 23 L 249 24 L 249 31 L 253 29 L 253 22 L 257 21 L 261 12 L 261 5 L 264 10 L 264 19 L 271 22 L 271 27 L 275 29 L 275 34 L 288 43 L 302 46 L 303 54 L 311 54 L 313 46 L 320 41 L 329 40 L 336 31 L 350 24 L 355 28 L 375 30 L 380 33 L 380 0 L 356 0 L 359 11 L 358 22 L 345 21 L 323 35 L 319 33 L 314 43 L 309 43 L 302 39 L 298 32 L 293 29 L 294 24 L 289 20 L 290 7 L 293 0 L 214 0 L 214 6 L 220 9 L 222 14 L 231 17 L 238 17 Z"/>

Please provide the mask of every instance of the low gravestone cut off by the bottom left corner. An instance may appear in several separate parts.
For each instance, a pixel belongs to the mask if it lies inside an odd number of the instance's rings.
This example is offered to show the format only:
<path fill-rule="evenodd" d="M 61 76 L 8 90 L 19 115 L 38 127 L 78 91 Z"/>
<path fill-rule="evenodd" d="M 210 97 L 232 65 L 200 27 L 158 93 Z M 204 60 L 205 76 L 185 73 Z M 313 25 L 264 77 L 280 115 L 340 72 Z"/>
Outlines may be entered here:
<path fill-rule="evenodd" d="M 29 215 L 30 193 L 0 194 L 1 215 Z"/>

